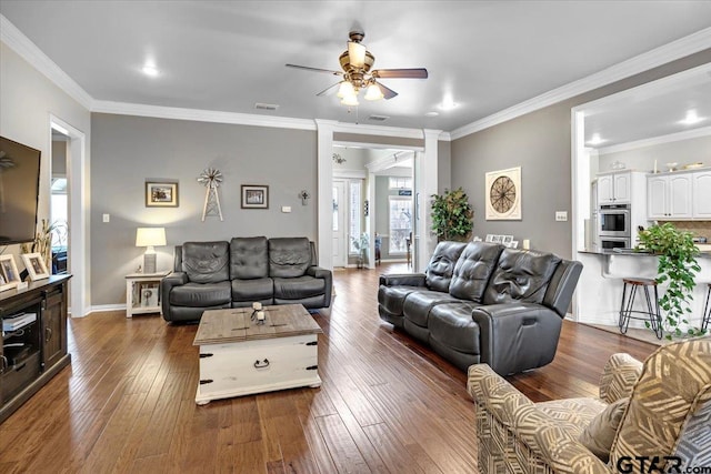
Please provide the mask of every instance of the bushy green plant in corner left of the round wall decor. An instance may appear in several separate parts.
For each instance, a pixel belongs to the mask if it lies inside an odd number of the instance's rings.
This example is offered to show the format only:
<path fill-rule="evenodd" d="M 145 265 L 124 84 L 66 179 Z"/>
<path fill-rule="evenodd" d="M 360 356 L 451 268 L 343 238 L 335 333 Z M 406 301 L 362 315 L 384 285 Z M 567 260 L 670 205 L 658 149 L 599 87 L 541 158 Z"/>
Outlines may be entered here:
<path fill-rule="evenodd" d="M 438 240 L 469 240 L 474 226 L 474 212 L 469 198 L 460 186 L 444 190 L 444 194 L 432 194 L 432 232 Z"/>

